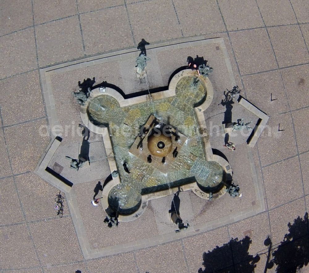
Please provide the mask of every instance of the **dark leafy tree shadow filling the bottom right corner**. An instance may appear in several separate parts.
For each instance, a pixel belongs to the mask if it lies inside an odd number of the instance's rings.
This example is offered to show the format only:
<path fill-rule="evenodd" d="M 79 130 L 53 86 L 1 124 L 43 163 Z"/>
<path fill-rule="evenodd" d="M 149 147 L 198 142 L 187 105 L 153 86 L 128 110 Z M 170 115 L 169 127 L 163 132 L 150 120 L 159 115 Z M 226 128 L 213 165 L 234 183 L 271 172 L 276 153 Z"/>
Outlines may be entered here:
<path fill-rule="evenodd" d="M 273 262 L 277 265 L 278 273 L 298 272 L 309 263 L 308 213 L 304 218 L 298 216 L 288 227 L 289 233 L 273 251 Z"/>

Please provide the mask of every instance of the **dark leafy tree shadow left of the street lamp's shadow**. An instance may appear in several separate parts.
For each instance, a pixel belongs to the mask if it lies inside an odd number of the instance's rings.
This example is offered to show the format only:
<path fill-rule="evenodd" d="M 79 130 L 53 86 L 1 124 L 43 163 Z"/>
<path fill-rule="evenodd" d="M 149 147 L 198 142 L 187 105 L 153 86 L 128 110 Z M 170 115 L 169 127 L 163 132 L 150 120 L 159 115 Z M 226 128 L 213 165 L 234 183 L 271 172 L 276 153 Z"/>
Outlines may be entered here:
<path fill-rule="evenodd" d="M 242 240 L 231 239 L 222 246 L 216 246 L 213 250 L 204 252 L 203 266 L 199 273 L 253 273 L 256 263 L 260 260 L 258 255 L 249 254 L 251 239 L 246 236 Z M 229 258 L 227 258 L 229 257 Z"/>

